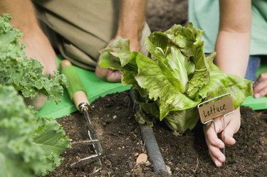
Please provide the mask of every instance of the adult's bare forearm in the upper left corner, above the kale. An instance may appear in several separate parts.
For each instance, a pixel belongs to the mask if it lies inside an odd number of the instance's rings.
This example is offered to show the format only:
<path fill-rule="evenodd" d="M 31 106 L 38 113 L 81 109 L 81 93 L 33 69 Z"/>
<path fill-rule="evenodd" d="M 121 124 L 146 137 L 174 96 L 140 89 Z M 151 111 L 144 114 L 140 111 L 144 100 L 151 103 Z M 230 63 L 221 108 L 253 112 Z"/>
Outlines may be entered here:
<path fill-rule="evenodd" d="M 38 27 L 33 4 L 30 0 L 1 0 L 0 13 L 11 14 L 11 24 L 23 33 Z"/>

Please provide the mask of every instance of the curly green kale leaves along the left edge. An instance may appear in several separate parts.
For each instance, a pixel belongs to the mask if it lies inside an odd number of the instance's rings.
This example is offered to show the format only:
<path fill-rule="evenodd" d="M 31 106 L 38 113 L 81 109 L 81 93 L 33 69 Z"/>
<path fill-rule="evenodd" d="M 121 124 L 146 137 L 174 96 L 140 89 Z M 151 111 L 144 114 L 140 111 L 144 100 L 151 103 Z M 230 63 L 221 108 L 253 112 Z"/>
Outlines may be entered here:
<path fill-rule="evenodd" d="M 26 57 L 19 43 L 22 33 L 10 19 L 0 16 L 0 176 L 43 176 L 60 165 L 69 139 L 56 120 L 36 117 L 23 97 L 43 92 L 59 102 L 66 77 L 42 75 L 43 66 Z"/>

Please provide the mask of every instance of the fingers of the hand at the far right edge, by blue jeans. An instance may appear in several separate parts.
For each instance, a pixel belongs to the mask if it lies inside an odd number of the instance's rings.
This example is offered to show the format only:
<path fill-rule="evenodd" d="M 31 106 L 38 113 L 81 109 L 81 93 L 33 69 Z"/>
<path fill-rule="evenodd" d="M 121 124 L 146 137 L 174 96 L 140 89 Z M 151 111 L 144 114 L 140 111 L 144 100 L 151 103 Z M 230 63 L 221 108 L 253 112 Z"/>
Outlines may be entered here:
<path fill-rule="evenodd" d="M 261 73 L 253 86 L 253 95 L 260 98 L 267 95 L 267 73 Z"/>

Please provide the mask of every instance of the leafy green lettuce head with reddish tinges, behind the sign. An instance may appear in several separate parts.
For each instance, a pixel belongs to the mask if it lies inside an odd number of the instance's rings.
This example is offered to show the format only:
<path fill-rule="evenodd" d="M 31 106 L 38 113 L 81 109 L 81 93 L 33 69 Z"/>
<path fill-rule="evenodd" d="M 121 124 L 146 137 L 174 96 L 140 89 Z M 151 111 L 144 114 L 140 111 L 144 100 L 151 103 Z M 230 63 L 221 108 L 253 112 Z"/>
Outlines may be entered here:
<path fill-rule="evenodd" d="M 237 108 L 251 95 L 251 81 L 224 74 L 213 63 L 216 53 L 204 55 L 202 33 L 192 23 L 156 31 L 146 39 L 150 58 L 122 38 L 100 51 L 100 67 L 121 70 L 122 84 L 135 89 L 138 122 L 152 124 L 153 117 L 184 133 L 197 124 L 200 102 L 230 93 Z"/>

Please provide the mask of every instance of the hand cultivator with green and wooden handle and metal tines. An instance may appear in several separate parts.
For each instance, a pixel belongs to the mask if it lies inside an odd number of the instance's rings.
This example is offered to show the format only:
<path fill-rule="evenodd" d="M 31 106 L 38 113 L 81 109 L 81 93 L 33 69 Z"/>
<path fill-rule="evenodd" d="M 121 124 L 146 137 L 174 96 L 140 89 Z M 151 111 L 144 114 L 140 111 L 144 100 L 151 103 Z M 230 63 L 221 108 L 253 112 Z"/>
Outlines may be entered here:
<path fill-rule="evenodd" d="M 84 114 L 88 127 L 89 142 L 92 144 L 93 150 L 95 151 L 95 154 L 79 159 L 70 166 L 75 167 L 90 163 L 92 161 L 98 161 L 99 168 L 93 171 L 93 173 L 96 173 L 102 169 L 100 157 L 102 156 L 103 149 L 89 117 L 88 110 L 90 108 L 90 104 L 88 97 L 85 88 L 83 87 L 83 83 L 80 81 L 78 73 L 76 72 L 75 67 L 71 65 L 70 61 L 63 60 L 61 62 L 61 68 L 62 73 L 66 75 L 68 79 L 68 95 L 70 95 L 70 99 L 73 100 L 75 107 L 77 107 L 77 109 Z"/>

